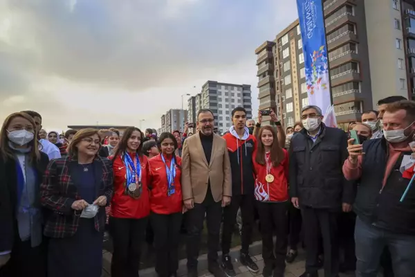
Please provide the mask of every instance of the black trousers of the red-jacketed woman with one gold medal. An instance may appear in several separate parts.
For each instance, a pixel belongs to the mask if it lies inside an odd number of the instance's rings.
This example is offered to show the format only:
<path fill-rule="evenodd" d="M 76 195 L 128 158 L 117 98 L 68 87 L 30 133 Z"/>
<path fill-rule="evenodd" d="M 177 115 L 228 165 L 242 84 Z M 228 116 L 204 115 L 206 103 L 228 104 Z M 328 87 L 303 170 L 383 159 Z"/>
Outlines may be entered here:
<path fill-rule="evenodd" d="M 259 222 L 261 222 L 262 258 L 266 266 L 275 267 L 275 271 L 284 274 L 287 251 L 287 203 L 264 203 L 257 201 Z M 277 236 L 275 245 L 273 235 Z"/>

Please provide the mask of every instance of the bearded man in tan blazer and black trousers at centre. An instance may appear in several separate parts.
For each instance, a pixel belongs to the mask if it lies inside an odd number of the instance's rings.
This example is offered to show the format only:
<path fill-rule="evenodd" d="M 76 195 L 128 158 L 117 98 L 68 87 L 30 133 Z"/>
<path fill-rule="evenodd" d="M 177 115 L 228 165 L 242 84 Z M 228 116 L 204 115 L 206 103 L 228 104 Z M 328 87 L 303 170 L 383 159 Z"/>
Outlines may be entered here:
<path fill-rule="evenodd" d="M 230 204 L 232 181 L 226 141 L 213 133 L 210 109 L 197 115 L 199 132 L 185 140 L 182 152 L 182 194 L 187 208 L 187 276 L 196 277 L 203 221 L 208 225 L 208 269 L 223 276 L 217 261 L 222 208 Z"/>

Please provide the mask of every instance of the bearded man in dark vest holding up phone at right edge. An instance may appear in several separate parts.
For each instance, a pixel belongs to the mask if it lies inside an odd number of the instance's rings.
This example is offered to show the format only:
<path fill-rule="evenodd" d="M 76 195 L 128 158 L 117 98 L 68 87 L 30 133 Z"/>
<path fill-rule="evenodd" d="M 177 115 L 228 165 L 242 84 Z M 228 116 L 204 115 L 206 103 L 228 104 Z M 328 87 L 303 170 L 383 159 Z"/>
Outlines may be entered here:
<path fill-rule="evenodd" d="M 380 107 L 381 108 L 381 107 Z M 383 107 L 382 107 L 383 108 Z M 394 274 L 413 276 L 415 272 L 415 190 L 400 202 L 409 179 L 400 167 L 412 154 L 415 102 L 393 102 L 382 111 L 383 137 L 354 145 L 349 139 L 349 158 L 343 173 L 359 181 L 353 205 L 356 220 L 356 276 L 375 277 L 385 247 L 392 253 Z"/>

